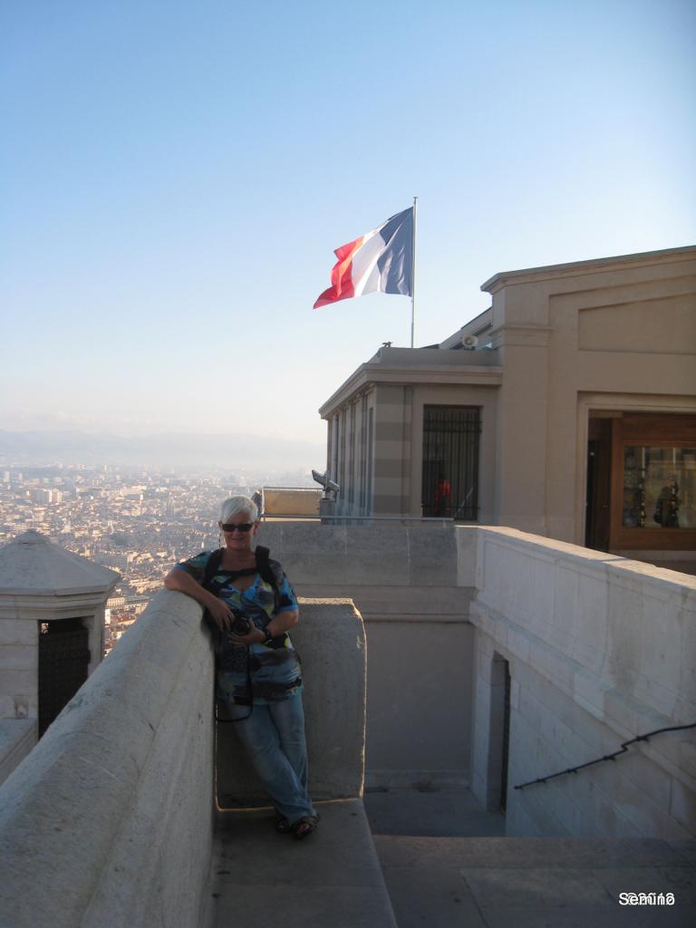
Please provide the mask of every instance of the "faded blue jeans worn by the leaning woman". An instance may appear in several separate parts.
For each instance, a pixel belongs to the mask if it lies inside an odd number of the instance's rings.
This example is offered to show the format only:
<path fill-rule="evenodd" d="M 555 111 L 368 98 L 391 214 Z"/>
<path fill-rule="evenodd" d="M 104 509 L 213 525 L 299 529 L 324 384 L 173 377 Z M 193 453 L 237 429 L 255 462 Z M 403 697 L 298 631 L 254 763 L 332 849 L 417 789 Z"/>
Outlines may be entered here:
<path fill-rule="evenodd" d="M 233 728 L 246 748 L 264 790 L 273 800 L 278 815 L 290 824 L 316 815 L 307 793 L 307 744 L 304 740 L 302 695 L 281 702 L 256 703 L 251 715 L 247 705 L 231 705 L 238 718 Z"/>

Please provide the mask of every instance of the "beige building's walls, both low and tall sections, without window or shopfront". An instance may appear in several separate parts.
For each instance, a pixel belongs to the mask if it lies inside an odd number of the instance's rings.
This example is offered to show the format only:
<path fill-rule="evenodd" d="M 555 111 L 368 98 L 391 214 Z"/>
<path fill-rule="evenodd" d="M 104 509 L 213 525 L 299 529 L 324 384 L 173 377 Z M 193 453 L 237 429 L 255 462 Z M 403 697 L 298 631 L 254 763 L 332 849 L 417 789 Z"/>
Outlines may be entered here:
<path fill-rule="evenodd" d="M 495 352 L 385 349 L 339 392 L 345 402 L 351 389 L 371 390 L 367 511 L 419 515 L 423 405 L 480 405 L 480 522 L 584 544 L 584 397 L 617 411 L 696 413 L 694 251 L 515 271 L 484 289 L 493 304 L 477 324 L 490 322 Z M 362 514 L 345 499 L 337 513 Z"/>

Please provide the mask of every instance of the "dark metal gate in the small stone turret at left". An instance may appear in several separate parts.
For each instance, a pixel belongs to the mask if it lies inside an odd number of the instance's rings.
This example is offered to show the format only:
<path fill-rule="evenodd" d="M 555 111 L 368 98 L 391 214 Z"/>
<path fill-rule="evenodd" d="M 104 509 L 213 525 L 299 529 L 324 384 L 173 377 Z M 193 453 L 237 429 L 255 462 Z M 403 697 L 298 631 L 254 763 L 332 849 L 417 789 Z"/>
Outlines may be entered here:
<path fill-rule="evenodd" d="M 82 619 L 39 623 L 39 738 L 87 678 L 88 636 Z"/>

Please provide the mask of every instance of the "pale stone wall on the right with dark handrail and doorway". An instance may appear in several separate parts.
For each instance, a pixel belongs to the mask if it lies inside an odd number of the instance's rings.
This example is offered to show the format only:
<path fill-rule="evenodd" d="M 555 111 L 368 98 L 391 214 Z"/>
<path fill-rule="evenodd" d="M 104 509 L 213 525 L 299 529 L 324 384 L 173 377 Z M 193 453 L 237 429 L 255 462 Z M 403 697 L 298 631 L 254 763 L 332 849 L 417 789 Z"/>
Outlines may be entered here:
<path fill-rule="evenodd" d="M 499 801 L 508 662 L 508 834 L 693 837 L 693 730 L 513 787 L 696 722 L 696 581 L 513 529 L 458 531 L 478 539 L 474 793 Z"/>

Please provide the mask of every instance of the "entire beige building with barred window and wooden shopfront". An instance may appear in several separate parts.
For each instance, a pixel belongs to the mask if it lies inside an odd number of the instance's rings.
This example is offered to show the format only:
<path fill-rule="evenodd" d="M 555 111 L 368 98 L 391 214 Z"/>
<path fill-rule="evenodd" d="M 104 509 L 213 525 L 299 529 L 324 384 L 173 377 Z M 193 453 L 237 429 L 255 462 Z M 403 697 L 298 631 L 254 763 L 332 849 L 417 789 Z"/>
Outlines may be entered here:
<path fill-rule="evenodd" d="M 336 514 L 688 561 L 696 247 L 509 271 L 482 290 L 481 316 L 437 345 L 380 349 L 321 407 Z"/>

